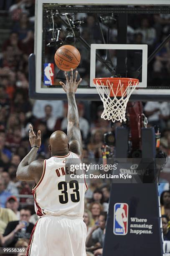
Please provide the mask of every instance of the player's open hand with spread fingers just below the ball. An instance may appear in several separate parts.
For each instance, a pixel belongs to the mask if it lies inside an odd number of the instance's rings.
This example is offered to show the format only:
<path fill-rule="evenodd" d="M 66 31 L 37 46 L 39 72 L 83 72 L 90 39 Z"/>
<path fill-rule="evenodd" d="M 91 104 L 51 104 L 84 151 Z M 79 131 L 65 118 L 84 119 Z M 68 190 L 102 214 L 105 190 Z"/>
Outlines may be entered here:
<path fill-rule="evenodd" d="M 80 82 L 81 82 L 81 78 L 78 82 L 76 82 L 78 71 L 76 71 L 74 73 L 74 77 L 73 77 L 73 69 L 71 69 L 70 78 L 69 78 L 69 75 L 67 74 L 66 71 L 64 72 L 64 74 L 65 74 L 65 77 L 66 77 L 66 84 L 64 84 L 63 82 L 60 82 L 60 84 L 63 87 L 63 90 L 66 93 L 69 93 L 69 92 L 75 93 L 79 84 L 80 84 Z"/>

